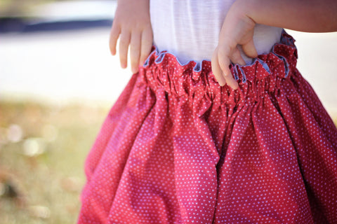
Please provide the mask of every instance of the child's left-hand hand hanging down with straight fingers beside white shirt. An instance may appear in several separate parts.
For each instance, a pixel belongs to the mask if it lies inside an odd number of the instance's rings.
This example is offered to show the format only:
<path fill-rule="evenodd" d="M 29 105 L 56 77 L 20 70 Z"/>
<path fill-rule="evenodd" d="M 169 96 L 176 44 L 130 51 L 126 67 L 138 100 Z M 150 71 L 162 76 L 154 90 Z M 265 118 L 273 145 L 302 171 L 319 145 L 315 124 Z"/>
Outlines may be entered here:
<path fill-rule="evenodd" d="M 131 70 L 145 62 L 152 48 L 152 27 L 150 22 L 149 0 L 119 0 L 110 33 L 110 51 L 116 55 L 119 38 L 119 60 L 121 67 L 128 63 L 130 45 Z"/>

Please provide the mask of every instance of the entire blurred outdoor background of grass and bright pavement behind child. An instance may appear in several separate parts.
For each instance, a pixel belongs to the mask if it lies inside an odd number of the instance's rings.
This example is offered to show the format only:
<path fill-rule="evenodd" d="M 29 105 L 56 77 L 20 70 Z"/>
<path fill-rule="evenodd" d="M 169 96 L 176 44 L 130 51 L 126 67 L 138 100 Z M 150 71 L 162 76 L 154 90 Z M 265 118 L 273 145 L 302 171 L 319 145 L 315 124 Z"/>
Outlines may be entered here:
<path fill-rule="evenodd" d="M 117 3 L 0 0 L 0 223 L 76 223 L 83 164 L 131 77 L 108 48 Z M 337 33 L 289 31 L 337 121 Z"/>

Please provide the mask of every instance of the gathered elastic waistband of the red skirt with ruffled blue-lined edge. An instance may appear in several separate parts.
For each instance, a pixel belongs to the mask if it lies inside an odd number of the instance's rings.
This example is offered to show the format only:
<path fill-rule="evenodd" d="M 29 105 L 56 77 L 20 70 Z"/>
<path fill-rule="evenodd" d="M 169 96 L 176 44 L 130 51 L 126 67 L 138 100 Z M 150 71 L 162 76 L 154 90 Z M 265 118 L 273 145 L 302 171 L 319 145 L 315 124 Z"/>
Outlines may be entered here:
<path fill-rule="evenodd" d="M 218 94 L 230 95 L 233 91 L 246 97 L 258 97 L 265 91 L 275 92 L 282 80 L 289 80 L 292 76 L 297 62 L 294 42 L 283 31 L 279 43 L 275 43 L 271 52 L 258 55 L 249 65 L 231 64 L 232 75 L 239 83 L 238 90 L 232 90 L 227 85 L 220 87 L 211 71 L 210 61 L 180 64 L 175 55 L 167 51 L 158 52 L 155 47 L 138 75 L 152 90 L 164 89 L 179 97 L 197 93 L 214 98 Z"/>

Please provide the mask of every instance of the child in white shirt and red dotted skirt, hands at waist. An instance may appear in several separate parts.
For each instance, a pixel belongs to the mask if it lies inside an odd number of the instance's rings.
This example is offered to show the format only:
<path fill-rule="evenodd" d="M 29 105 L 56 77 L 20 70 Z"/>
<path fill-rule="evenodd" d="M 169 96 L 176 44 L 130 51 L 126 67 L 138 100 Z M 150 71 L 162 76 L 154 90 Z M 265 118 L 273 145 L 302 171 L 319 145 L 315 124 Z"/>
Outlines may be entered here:
<path fill-rule="evenodd" d="M 337 130 L 277 28 L 337 31 L 336 12 L 119 0 L 110 48 L 126 67 L 130 46 L 135 74 L 86 160 L 78 223 L 337 223 Z"/>

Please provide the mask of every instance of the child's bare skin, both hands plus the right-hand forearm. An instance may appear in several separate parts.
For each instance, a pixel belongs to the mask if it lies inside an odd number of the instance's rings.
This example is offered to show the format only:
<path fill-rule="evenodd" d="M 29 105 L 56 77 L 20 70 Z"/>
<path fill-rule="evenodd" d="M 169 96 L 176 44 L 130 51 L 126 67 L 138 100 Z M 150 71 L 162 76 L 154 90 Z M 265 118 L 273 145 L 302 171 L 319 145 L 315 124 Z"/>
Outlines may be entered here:
<path fill-rule="evenodd" d="M 131 70 L 138 71 L 152 48 L 152 28 L 149 0 L 119 0 L 112 31 L 110 50 L 116 54 L 119 40 L 121 67 L 127 65 L 128 45 L 130 45 Z M 213 52 L 212 71 L 218 83 L 227 83 L 234 90 L 237 81 L 230 73 L 230 62 L 244 65 L 237 45 L 242 45 L 248 57 L 257 57 L 253 43 L 253 29 L 263 24 L 283 27 L 296 31 L 329 32 L 337 31 L 336 0 L 237 0 L 235 1 L 220 29 L 219 43 Z"/>

